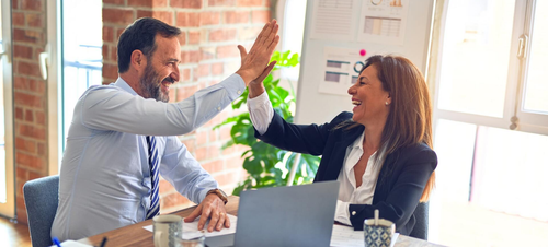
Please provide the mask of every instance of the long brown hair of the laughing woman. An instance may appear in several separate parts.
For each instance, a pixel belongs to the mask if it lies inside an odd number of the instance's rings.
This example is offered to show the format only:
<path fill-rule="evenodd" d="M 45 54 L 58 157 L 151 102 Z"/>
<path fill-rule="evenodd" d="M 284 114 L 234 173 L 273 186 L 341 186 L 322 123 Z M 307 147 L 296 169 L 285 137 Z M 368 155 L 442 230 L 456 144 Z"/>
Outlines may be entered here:
<path fill-rule="evenodd" d="M 399 56 L 372 56 L 365 61 L 363 70 L 369 66 L 377 69 L 383 89 L 392 99 L 376 160 L 384 162 L 398 149 L 419 143 L 432 149 L 432 103 L 421 71 L 409 59 Z M 358 124 L 349 128 L 354 126 Z M 424 187 L 421 202 L 429 200 L 434 184 L 435 172 Z"/>

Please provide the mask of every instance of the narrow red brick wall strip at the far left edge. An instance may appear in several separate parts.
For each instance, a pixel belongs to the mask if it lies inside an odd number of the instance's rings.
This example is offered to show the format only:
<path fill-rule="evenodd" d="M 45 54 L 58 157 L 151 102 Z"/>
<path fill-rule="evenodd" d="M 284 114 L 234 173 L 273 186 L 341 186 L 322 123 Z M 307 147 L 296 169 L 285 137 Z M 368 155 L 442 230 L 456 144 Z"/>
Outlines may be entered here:
<path fill-rule="evenodd" d="M 38 63 L 46 45 L 46 1 L 13 0 L 12 11 L 16 212 L 26 223 L 23 185 L 48 175 L 46 81 Z"/>

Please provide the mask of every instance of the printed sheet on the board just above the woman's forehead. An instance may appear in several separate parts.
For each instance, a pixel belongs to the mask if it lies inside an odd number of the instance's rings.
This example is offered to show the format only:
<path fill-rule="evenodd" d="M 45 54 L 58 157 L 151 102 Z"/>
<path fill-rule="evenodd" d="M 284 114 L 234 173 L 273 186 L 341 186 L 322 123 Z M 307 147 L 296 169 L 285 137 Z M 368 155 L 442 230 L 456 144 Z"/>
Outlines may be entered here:
<path fill-rule="evenodd" d="M 364 67 L 366 56 L 359 55 L 359 49 L 323 48 L 322 81 L 318 92 L 336 95 L 349 95 L 349 87 L 357 81 Z"/>

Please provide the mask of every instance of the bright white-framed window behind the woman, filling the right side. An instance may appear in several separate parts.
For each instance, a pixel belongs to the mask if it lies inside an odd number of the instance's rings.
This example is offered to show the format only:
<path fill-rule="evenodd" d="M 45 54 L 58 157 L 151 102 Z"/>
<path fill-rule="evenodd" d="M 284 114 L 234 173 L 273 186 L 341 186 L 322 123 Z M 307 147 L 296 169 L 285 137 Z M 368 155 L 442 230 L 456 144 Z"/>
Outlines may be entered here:
<path fill-rule="evenodd" d="M 548 1 L 443 2 L 430 74 L 439 161 L 430 239 L 515 246 L 527 244 L 500 236 L 532 232 L 520 239 L 535 245 L 546 236 L 534 231 L 548 230 L 548 200 L 538 196 L 548 192 Z M 504 226 L 511 220 L 520 234 Z"/>

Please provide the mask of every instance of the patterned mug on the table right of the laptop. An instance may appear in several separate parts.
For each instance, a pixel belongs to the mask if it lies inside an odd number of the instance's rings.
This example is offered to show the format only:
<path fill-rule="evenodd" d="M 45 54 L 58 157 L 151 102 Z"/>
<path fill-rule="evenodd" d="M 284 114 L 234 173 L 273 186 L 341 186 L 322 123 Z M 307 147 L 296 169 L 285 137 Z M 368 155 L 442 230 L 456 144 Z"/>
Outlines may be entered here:
<path fill-rule="evenodd" d="M 374 219 L 364 221 L 365 247 L 390 247 L 396 225 L 388 220 L 379 219 L 375 225 Z"/>

